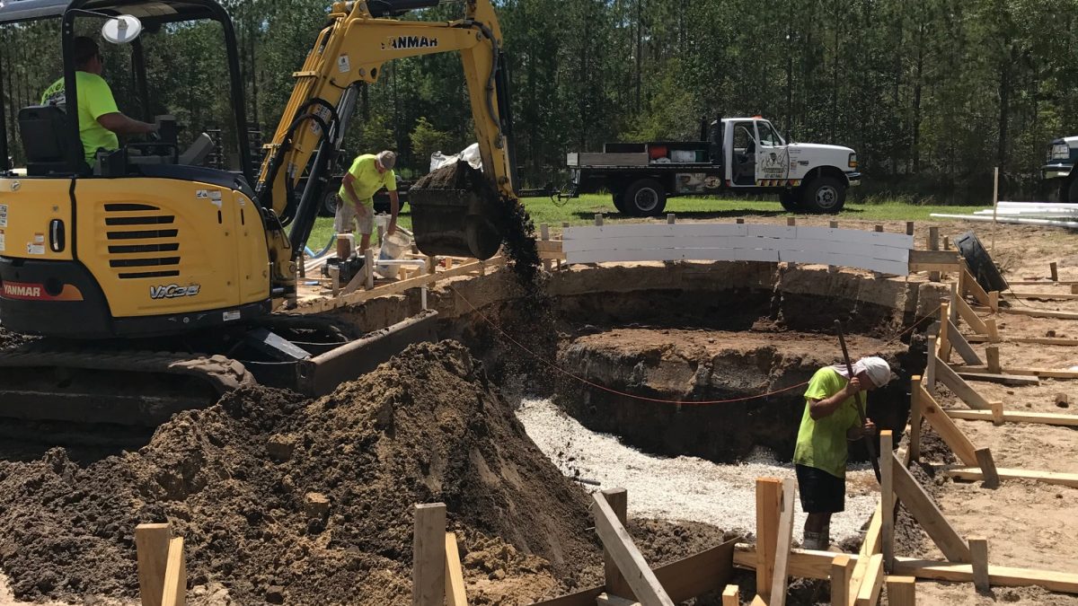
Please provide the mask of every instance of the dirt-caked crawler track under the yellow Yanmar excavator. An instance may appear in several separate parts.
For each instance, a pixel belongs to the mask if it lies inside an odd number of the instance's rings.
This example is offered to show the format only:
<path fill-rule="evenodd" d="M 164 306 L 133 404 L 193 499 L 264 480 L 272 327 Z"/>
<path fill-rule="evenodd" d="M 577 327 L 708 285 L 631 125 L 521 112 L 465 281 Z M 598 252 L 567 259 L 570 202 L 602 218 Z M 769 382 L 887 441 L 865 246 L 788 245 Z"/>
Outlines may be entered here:
<path fill-rule="evenodd" d="M 150 428 L 254 383 L 225 356 L 40 340 L 0 353 L 0 417 Z"/>

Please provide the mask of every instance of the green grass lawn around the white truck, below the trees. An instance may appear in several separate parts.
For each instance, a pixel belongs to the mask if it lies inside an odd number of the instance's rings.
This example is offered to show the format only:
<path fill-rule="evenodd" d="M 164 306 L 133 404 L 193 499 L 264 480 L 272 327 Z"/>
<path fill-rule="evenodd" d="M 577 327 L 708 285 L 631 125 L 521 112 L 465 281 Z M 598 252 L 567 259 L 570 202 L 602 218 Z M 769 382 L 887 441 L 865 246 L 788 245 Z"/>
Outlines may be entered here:
<path fill-rule="evenodd" d="M 562 229 L 562 223 L 568 221 L 573 225 L 592 223 L 596 212 L 605 215 L 605 221 L 610 223 L 623 221 L 639 221 L 635 217 L 625 217 L 614 210 L 609 195 L 588 194 L 579 198 L 557 203 L 549 197 L 524 198 L 524 207 L 531 215 L 536 228 L 543 223 L 554 232 Z M 835 220 L 856 219 L 860 221 L 937 221 L 929 217 L 932 212 L 952 215 L 970 215 L 975 210 L 986 208 L 978 206 L 916 206 L 900 202 L 883 204 L 846 204 Z M 675 212 L 678 218 L 691 220 L 732 221 L 738 217 L 797 217 L 787 212 L 777 201 L 754 199 L 714 199 L 696 197 L 672 197 L 666 203 L 666 212 Z M 821 217 L 821 216 L 816 216 Z M 404 229 L 412 228 L 412 216 L 407 205 L 401 212 L 398 222 Z M 310 232 L 308 247 L 316 251 L 333 236 L 333 219 L 323 217 L 315 222 Z"/>

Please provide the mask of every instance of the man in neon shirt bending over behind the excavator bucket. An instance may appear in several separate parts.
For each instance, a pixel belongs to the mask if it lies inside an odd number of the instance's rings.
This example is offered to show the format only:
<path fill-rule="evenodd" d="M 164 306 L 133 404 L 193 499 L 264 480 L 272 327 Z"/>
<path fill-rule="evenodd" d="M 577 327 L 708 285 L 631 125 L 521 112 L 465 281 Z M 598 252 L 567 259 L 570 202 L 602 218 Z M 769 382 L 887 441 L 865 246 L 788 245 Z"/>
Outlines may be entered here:
<path fill-rule="evenodd" d="M 400 199 L 397 197 L 397 175 L 393 166 L 397 154 L 391 151 L 375 154 L 363 154 L 356 157 L 351 168 L 345 174 L 337 192 L 341 202 L 337 204 L 336 216 L 333 218 L 333 229 L 337 233 L 337 259 L 342 261 L 351 256 L 348 240 L 341 234 L 350 234 L 353 223 L 359 225 L 362 236 L 359 250 L 371 246 L 371 232 L 374 231 L 374 194 L 382 188 L 389 192 L 389 225 L 386 234 L 397 231 L 397 214 L 400 211 Z"/>

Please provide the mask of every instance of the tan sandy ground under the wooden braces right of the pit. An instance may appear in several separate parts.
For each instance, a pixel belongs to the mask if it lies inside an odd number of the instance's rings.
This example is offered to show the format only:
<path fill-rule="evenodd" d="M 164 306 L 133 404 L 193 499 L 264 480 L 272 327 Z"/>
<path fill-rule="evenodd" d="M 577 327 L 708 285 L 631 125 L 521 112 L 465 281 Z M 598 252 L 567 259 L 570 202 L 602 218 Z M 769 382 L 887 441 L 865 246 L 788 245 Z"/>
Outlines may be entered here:
<path fill-rule="evenodd" d="M 986 246 L 991 230 L 982 233 Z M 943 233 L 949 233 L 944 231 Z M 1012 281 L 1047 278 L 1048 263 L 1056 261 L 1061 280 L 1078 279 L 1078 237 L 1064 231 L 1024 228 L 1000 228 L 994 259 L 1008 272 Z M 1014 286 L 1020 292 L 1070 292 L 1069 287 Z M 1037 301 L 1006 299 L 1013 308 L 1058 309 L 1078 312 L 1078 301 Z M 986 312 L 979 315 L 989 317 Z M 1078 347 L 1008 343 L 1008 338 L 1056 336 L 1078 338 L 1078 320 L 1029 318 L 1009 314 L 996 315 L 1005 342 L 998 345 L 1003 369 L 1040 368 L 1069 369 L 1078 364 Z M 969 328 L 959 323 L 963 332 Z M 986 344 L 973 348 L 985 357 Z M 960 363 L 954 354 L 952 363 Z M 1007 411 L 1078 414 L 1078 381 L 1041 380 L 1037 386 L 1012 387 L 985 382 L 971 382 L 990 401 L 1004 402 Z M 1055 404 L 1055 395 L 1066 394 L 1070 404 Z M 939 397 L 952 408 L 967 408 L 945 388 Z M 1026 470 L 1078 473 L 1078 430 L 1048 425 L 1006 424 L 996 427 L 981 421 L 956 421 L 977 447 L 990 447 L 996 466 Z M 1049 485 L 1032 481 L 1005 481 L 997 490 L 987 490 L 980 482 L 945 482 L 936 488 L 937 500 L 944 515 L 963 536 L 982 536 L 989 541 L 992 565 L 1038 568 L 1078 573 L 1078 488 Z M 943 560 L 930 547 L 918 555 Z M 982 605 L 998 602 L 1021 604 L 1078 605 L 1078 596 L 1051 593 L 1039 588 L 993 588 L 978 595 L 968 583 L 918 582 L 917 597 L 923 604 Z"/>

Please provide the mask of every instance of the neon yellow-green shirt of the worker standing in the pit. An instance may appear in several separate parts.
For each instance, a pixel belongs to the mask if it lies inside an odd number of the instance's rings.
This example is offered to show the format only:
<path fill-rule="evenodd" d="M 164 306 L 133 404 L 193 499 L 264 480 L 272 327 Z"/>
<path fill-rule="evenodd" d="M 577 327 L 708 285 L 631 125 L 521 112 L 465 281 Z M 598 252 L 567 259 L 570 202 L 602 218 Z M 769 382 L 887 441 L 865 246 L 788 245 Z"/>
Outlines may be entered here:
<path fill-rule="evenodd" d="M 846 430 L 860 425 L 857 402 L 846 398 L 829 416 L 814 419 L 808 414 L 808 400 L 826 400 L 841 391 L 846 377 L 834 372 L 831 367 L 816 371 L 805 389 L 805 412 L 798 430 L 798 445 L 793 450 L 793 463 L 815 467 L 835 478 L 846 478 Z"/>

